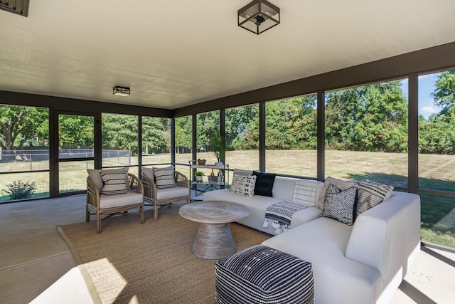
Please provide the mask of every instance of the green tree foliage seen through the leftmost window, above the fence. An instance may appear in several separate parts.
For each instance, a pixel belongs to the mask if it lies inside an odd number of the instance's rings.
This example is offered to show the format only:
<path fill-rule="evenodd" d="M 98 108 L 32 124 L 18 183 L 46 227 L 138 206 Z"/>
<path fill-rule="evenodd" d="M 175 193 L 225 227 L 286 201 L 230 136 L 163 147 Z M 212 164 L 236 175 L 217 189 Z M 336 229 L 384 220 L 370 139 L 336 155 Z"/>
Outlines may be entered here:
<path fill-rule="evenodd" d="M 43 143 L 49 138 L 49 111 L 44 108 L 0 105 L 0 147 L 21 150 L 35 137 Z"/>

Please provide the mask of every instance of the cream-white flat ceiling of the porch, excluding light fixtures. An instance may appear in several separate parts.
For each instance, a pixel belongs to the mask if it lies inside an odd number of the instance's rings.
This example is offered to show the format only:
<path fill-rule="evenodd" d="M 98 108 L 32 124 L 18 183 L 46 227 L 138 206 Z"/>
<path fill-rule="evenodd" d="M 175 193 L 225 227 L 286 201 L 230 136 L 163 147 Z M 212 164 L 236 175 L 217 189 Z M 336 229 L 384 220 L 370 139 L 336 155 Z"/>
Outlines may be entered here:
<path fill-rule="evenodd" d="M 454 0 L 271 0 L 281 24 L 259 36 L 237 26 L 248 2 L 0 10 L 0 90 L 174 109 L 455 41 Z"/>

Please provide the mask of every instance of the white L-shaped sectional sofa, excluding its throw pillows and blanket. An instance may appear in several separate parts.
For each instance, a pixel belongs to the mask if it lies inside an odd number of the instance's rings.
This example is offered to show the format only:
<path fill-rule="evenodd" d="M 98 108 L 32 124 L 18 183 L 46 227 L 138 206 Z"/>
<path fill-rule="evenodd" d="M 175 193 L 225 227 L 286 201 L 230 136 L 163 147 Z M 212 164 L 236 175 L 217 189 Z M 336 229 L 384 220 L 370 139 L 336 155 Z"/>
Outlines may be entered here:
<path fill-rule="evenodd" d="M 295 179 L 277 178 L 273 197 L 241 196 L 216 190 L 204 200 L 234 201 L 250 208 L 240 224 L 264 228 L 265 210 L 277 201 L 291 201 Z M 323 183 L 318 185 L 318 201 Z M 420 247 L 420 198 L 392 192 L 390 198 L 360 214 L 352 226 L 321 217 L 316 206 L 297 211 L 291 229 L 262 244 L 312 263 L 315 303 L 389 303 Z"/>

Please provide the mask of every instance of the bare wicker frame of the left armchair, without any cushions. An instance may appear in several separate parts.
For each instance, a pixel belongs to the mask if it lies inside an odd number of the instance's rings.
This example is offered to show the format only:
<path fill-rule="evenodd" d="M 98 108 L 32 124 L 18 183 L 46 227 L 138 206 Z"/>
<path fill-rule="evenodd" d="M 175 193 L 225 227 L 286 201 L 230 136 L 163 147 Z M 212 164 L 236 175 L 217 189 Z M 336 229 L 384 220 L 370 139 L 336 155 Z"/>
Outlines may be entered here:
<path fill-rule="evenodd" d="M 144 223 L 144 185 L 139 178 L 131 173 L 128 173 L 128 185 L 131 192 L 142 194 L 142 201 L 140 203 L 102 209 L 100 208 L 100 189 L 92 182 L 90 177 L 87 177 L 87 209 L 85 221 L 90 221 L 90 216 L 97 217 L 97 234 L 101 233 L 102 221 L 114 214 L 122 212 L 124 214 L 139 214 L 141 216 L 141 224 Z M 139 209 L 139 212 L 128 212 L 132 209 Z"/>

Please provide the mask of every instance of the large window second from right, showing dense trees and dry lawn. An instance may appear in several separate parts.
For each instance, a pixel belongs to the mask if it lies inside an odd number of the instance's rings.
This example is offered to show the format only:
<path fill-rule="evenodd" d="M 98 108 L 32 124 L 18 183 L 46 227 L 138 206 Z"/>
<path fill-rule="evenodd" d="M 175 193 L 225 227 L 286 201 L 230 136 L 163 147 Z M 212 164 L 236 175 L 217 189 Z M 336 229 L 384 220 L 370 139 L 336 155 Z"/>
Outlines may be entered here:
<path fill-rule="evenodd" d="M 407 188 L 407 82 L 326 93 L 325 175 Z"/>

